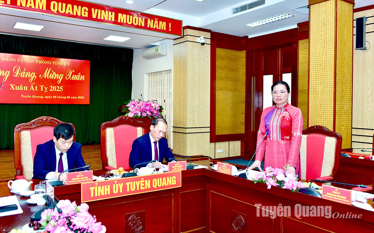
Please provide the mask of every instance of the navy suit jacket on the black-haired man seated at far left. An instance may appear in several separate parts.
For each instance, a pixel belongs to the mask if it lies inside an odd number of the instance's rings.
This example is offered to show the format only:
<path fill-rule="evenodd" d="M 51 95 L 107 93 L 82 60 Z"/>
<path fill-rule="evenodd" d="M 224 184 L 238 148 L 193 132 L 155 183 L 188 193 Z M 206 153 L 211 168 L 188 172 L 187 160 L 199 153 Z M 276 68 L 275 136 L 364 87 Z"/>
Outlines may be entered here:
<path fill-rule="evenodd" d="M 81 147 L 82 144 L 73 142 L 73 145 L 71 145 L 70 149 L 66 152 L 68 169 L 86 166 L 85 161 L 82 157 L 82 151 L 80 150 Z M 37 145 L 34 157 L 33 179 L 45 180 L 48 172 L 56 171 L 56 162 L 55 142 L 53 142 L 53 140 Z M 77 169 L 76 171 L 85 170 L 88 170 L 88 168 Z"/>

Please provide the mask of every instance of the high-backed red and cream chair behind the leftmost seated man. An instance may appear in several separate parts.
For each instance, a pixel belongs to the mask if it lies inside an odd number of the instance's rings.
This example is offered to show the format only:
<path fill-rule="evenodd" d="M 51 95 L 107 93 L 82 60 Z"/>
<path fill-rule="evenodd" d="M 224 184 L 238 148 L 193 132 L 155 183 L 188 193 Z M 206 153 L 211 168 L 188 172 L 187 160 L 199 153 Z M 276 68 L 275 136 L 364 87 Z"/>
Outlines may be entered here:
<path fill-rule="evenodd" d="M 53 138 L 53 128 L 60 123 L 64 122 L 54 117 L 42 116 L 14 127 L 14 166 L 16 168 L 16 179 L 33 178 L 36 146 L 51 140 Z M 75 135 L 73 139 L 75 141 Z"/>

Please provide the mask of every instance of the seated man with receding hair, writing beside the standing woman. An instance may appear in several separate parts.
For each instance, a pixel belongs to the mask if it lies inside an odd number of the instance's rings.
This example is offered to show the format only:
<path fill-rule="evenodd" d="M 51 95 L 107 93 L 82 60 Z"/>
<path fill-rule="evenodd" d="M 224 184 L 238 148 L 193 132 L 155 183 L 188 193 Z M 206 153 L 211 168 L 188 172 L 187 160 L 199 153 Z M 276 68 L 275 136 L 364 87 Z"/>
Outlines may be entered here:
<path fill-rule="evenodd" d="M 162 166 L 164 158 L 166 162 L 171 162 L 175 159 L 169 149 L 168 140 L 164 137 L 167 129 L 168 123 L 166 120 L 156 118 L 152 121 L 151 131 L 134 140 L 129 157 L 129 165 L 132 168 L 139 163 L 145 163 L 153 159 L 156 159 L 154 164 L 157 166 Z M 146 165 L 137 166 L 137 168 Z"/>

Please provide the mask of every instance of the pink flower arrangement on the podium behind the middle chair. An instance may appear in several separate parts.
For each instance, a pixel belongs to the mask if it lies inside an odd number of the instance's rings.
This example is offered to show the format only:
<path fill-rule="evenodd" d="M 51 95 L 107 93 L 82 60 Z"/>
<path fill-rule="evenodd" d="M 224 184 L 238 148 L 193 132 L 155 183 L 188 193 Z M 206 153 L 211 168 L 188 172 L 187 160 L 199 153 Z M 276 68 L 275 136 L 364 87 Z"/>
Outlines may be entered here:
<path fill-rule="evenodd" d="M 141 118 L 141 117 L 162 117 L 160 110 L 163 108 L 157 103 L 157 100 L 141 101 L 140 99 L 130 99 L 125 102 L 125 116 Z"/>

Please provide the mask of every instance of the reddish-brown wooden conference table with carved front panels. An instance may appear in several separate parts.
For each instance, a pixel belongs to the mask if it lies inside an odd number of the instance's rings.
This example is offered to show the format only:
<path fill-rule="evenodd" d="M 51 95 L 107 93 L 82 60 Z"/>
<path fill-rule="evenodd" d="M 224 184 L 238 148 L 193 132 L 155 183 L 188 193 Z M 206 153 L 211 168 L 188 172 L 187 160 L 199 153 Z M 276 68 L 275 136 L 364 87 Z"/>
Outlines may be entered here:
<path fill-rule="evenodd" d="M 181 172 L 181 187 L 88 202 L 113 232 L 372 232 L 374 212 L 279 187 L 267 188 L 211 169 Z M 126 178 L 124 178 L 126 179 Z M 34 183 L 39 183 L 36 180 Z M 80 184 L 58 186 L 56 200 L 80 204 Z M 9 196 L 6 182 L 0 196 Z M 23 214 L 0 217 L 1 230 L 20 228 L 41 206 L 20 197 Z M 317 211 L 316 211 L 317 210 Z"/>

